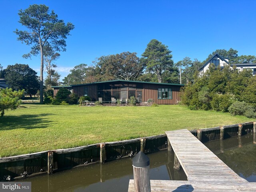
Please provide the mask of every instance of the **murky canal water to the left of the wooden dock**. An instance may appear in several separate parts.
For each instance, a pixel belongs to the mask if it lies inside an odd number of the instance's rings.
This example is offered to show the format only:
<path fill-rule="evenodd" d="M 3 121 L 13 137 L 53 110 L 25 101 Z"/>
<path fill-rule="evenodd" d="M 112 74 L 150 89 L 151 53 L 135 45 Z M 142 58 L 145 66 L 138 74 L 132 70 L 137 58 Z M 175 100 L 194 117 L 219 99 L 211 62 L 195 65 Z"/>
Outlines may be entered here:
<path fill-rule="evenodd" d="M 162 150 L 147 155 L 150 159 L 150 179 L 187 180 L 181 170 L 173 169 L 174 153 Z M 127 192 L 133 179 L 132 158 L 82 166 L 71 170 L 26 178 L 32 182 L 32 192 Z"/>

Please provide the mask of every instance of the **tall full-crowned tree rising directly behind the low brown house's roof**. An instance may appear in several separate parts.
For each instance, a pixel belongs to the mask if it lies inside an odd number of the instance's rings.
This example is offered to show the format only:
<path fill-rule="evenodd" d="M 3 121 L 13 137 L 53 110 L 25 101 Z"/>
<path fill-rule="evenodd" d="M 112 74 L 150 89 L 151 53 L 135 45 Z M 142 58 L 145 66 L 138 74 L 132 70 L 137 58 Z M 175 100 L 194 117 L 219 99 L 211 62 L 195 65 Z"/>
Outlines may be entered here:
<path fill-rule="evenodd" d="M 168 46 L 152 39 L 142 54 L 142 64 L 146 66 L 148 72 L 156 74 L 159 83 L 162 82 L 162 73 L 174 67 L 171 52 Z"/>

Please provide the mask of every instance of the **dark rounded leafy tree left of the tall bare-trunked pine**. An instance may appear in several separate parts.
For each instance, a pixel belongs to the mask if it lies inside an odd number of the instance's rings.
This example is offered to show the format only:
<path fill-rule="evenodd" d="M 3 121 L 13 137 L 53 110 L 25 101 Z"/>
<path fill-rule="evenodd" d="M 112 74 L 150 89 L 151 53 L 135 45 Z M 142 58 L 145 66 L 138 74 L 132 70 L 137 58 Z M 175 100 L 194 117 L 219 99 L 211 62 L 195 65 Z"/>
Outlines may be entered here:
<path fill-rule="evenodd" d="M 32 97 L 39 89 L 36 74 L 37 72 L 25 64 L 8 65 L 5 79 L 9 87 L 16 90 L 24 89 Z"/>

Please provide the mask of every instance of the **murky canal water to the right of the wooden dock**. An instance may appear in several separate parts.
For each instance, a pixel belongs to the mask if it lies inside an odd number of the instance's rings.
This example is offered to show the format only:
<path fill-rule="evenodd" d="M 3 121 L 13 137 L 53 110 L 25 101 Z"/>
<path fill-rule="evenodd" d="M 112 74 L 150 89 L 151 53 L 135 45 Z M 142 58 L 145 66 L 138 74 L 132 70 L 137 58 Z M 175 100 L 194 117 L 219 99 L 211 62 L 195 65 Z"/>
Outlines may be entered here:
<path fill-rule="evenodd" d="M 204 143 L 236 174 L 248 182 L 256 182 L 256 144 L 253 134 Z"/>

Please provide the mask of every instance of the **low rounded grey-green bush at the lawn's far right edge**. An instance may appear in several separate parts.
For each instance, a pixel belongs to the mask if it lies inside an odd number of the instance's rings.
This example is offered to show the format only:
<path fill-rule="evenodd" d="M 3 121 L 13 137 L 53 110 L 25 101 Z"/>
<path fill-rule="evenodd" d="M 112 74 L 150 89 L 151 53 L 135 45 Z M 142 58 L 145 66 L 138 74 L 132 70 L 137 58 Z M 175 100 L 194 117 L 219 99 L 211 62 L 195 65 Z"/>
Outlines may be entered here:
<path fill-rule="evenodd" d="M 228 111 L 232 115 L 244 115 L 244 116 L 250 117 L 250 118 L 255 117 L 254 106 L 252 106 L 246 102 L 236 101 L 228 108 Z"/>

